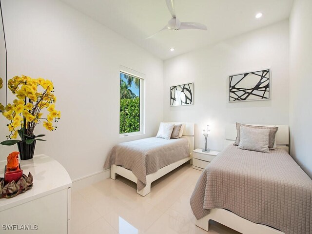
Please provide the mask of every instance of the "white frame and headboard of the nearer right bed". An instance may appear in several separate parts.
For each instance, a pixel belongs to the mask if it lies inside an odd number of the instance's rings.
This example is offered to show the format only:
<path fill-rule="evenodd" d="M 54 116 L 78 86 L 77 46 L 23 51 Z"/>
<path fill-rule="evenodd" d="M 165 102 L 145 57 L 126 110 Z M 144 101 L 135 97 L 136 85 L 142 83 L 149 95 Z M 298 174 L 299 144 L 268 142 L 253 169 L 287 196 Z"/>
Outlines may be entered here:
<path fill-rule="evenodd" d="M 289 152 L 289 127 L 288 125 L 259 125 L 259 124 L 250 124 L 258 126 L 270 126 L 278 127 L 276 133 L 276 144 L 277 148 L 282 148 Z M 233 144 L 236 139 L 236 124 L 228 124 L 225 127 L 225 147 Z M 229 228 L 236 230 L 242 234 L 284 234 L 281 231 L 278 231 L 274 228 L 271 228 L 266 225 L 257 224 L 252 221 L 249 221 L 245 218 L 242 218 L 228 210 L 215 208 L 211 209 L 209 215 L 196 220 L 196 226 L 209 231 L 209 220 L 214 220 L 218 223 L 221 223 Z"/>

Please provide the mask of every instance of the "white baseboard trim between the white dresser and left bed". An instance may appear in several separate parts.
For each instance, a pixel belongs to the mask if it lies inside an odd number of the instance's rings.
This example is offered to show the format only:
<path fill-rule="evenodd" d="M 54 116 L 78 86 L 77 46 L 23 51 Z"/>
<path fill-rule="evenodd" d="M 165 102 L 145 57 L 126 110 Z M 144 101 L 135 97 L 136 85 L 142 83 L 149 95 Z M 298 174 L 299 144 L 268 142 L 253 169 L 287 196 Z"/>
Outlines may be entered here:
<path fill-rule="evenodd" d="M 111 169 L 96 172 L 73 180 L 72 192 L 88 187 L 111 176 Z"/>

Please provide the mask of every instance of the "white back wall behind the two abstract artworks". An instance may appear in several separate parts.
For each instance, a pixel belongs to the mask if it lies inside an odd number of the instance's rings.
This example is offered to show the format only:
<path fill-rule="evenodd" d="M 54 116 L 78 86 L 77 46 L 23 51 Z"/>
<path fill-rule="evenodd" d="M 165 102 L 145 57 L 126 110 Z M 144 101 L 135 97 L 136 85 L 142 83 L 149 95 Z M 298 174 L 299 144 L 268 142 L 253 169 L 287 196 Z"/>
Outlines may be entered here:
<path fill-rule="evenodd" d="M 228 76 L 271 68 L 272 99 L 228 102 Z M 194 105 L 170 107 L 170 86 L 194 82 Z M 289 123 L 288 20 L 164 62 L 164 119 L 195 122 L 195 148 L 222 150 L 226 123 Z"/>

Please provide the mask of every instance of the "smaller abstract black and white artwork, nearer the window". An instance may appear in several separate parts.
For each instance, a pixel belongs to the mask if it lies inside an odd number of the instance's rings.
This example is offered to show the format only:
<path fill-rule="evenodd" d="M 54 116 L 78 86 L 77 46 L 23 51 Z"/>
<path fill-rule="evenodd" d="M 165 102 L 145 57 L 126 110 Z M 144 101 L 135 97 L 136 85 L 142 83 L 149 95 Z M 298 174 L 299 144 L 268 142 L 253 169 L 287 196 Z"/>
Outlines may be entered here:
<path fill-rule="evenodd" d="M 193 83 L 171 86 L 170 105 L 193 105 Z"/>

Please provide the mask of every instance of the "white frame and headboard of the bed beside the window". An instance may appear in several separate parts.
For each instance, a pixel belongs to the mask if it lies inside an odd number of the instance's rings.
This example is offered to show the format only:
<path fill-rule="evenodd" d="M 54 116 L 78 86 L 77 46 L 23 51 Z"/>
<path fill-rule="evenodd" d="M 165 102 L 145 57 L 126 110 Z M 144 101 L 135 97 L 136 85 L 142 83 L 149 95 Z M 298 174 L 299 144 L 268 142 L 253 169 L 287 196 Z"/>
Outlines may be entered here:
<path fill-rule="evenodd" d="M 180 122 L 171 122 L 171 123 L 178 124 Z M 190 156 L 183 158 L 177 162 L 174 162 L 168 166 L 165 166 L 153 174 L 147 175 L 146 176 L 146 186 L 141 191 L 137 191 L 137 193 L 139 195 L 145 196 L 145 195 L 151 193 L 151 184 L 153 181 L 155 181 L 156 179 L 159 179 L 160 177 L 166 175 L 167 173 L 175 170 L 177 167 L 181 166 L 183 163 L 192 159 L 192 153 L 194 150 L 194 123 L 184 123 L 184 124 L 185 124 L 185 127 L 183 130 L 182 137 L 187 138 L 187 140 L 189 141 Z M 111 166 L 111 178 L 116 179 L 116 174 L 123 176 L 123 177 L 137 183 L 137 176 L 135 176 L 132 173 L 132 171 L 125 169 L 124 167 L 116 166 L 115 164 L 113 164 Z"/>

